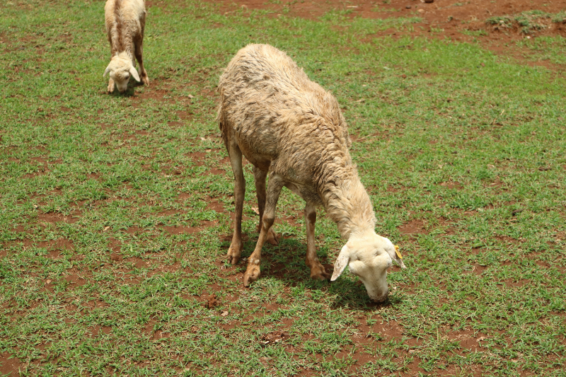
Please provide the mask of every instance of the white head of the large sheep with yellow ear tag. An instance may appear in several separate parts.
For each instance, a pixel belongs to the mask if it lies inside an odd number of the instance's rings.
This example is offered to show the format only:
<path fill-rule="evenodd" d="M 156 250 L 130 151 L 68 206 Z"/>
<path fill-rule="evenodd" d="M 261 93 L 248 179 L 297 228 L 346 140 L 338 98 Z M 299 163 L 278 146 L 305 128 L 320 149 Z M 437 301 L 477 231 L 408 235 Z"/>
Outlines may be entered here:
<path fill-rule="evenodd" d="M 350 272 L 366 286 L 371 301 L 385 301 L 389 292 L 387 269 L 391 267 L 391 260 L 395 260 L 401 268 L 406 268 L 400 253 L 388 238 L 377 235 L 373 230 L 353 234 L 340 250 L 330 281 L 336 280 L 349 266 Z"/>

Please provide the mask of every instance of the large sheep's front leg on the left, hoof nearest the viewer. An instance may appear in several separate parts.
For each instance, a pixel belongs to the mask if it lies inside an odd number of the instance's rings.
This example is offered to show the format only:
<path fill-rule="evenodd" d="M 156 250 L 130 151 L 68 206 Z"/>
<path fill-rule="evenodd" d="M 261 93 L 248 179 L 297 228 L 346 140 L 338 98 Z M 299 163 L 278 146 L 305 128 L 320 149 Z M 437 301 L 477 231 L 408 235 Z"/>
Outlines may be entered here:
<path fill-rule="evenodd" d="M 255 244 L 255 250 L 253 250 L 252 255 L 250 255 L 250 259 L 248 260 L 246 273 L 243 274 L 244 286 L 250 286 L 252 282 L 255 282 L 260 277 L 261 248 L 267 239 L 267 234 L 273 225 L 273 221 L 275 221 L 275 207 L 277 206 L 277 199 L 279 199 L 279 194 L 281 193 L 282 188 L 282 178 L 276 174 L 271 174 L 270 184 L 267 185 L 265 212 L 262 216 L 260 237 L 258 238 L 258 243 Z"/>

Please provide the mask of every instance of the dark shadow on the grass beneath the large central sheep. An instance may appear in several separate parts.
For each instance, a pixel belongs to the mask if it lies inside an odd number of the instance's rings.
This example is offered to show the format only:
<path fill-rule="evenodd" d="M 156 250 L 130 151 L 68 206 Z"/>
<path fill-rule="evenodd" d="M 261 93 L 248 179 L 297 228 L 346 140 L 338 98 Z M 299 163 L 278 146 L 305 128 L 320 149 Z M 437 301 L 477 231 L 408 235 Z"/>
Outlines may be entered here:
<path fill-rule="evenodd" d="M 257 236 L 248 238 L 244 242 L 242 259 L 238 262 L 238 272 L 246 272 L 247 258 L 253 253 Z M 223 248 L 229 248 L 229 242 L 223 244 Z M 364 284 L 346 270 L 335 282 L 330 280 L 320 281 L 311 279 L 311 270 L 304 261 L 306 255 L 306 243 L 296 240 L 294 236 L 279 237 L 279 245 L 264 245 L 262 248 L 261 276 L 260 279 L 272 277 L 282 281 L 286 286 L 292 288 L 308 289 L 318 291 L 320 294 L 332 294 L 335 300 L 330 307 L 352 308 L 360 311 L 375 311 L 380 308 L 388 308 L 402 302 L 399 296 L 389 296 L 383 303 L 374 303 L 369 299 Z M 317 248 L 320 262 L 330 274 L 333 273 L 333 261 L 329 262 L 326 248 Z M 259 282 L 259 281 L 258 281 Z M 251 285 L 250 289 L 253 289 Z"/>

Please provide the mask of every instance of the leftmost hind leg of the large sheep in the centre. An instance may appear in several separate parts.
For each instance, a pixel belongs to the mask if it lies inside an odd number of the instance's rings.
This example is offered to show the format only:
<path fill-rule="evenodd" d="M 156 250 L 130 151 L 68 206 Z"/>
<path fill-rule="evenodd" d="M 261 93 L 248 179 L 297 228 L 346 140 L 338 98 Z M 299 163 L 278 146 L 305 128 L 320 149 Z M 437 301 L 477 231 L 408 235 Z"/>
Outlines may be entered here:
<path fill-rule="evenodd" d="M 235 183 L 234 183 L 234 204 L 236 204 L 236 213 L 234 215 L 234 233 L 232 236 L 232 243 L 228 249 L 228 262 L 232 265 L 236 265 L 238 260 L 240 260 L 240 255 L 242 253 L 243 242 L 242 242 L 242 210 L 243 210 L 243 199 L 246 194 L 246 180 L 243 178 L 242 170 L 242 152 L 236 143 L 229 141 L 226 143 L 228 147 L 228 154 L 230 156 L 230 163 L 232 164 L 232 170 L 234 173 Z"/>

